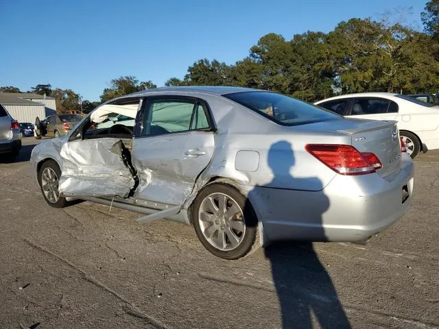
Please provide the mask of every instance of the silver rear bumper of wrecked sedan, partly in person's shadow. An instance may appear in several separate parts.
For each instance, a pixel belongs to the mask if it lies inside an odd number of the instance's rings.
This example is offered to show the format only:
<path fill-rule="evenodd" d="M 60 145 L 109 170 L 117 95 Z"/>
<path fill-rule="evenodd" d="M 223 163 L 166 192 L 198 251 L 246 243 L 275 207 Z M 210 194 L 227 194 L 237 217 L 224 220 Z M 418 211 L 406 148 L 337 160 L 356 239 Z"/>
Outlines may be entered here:
<path fill-rule="evenodd" d="M 256 187 L 250 192 L 268 241 L 361 241 L 399 219 L 412 202 L 414 164 L 391 177 L 336 175 L 322 191 Z M 409 198 L 402 202 L 407 185 Z"/>

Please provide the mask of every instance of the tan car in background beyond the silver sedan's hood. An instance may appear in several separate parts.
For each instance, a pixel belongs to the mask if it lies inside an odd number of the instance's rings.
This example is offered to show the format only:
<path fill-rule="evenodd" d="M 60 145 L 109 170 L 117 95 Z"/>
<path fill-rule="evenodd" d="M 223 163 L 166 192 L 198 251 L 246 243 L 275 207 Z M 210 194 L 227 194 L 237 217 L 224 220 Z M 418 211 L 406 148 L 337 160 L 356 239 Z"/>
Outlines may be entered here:
<path fill-rule="evenodd" d="M 82 117 L 78 114 L 53 114 L 49 115 L 43 122 L 40 122 L 40 119 L 37 117 L 35 125 L 39 129 L 36 130 L 35 137 L 40 139 L 41 136 L 55 138 L 64 136 L 81 120 Z"/>

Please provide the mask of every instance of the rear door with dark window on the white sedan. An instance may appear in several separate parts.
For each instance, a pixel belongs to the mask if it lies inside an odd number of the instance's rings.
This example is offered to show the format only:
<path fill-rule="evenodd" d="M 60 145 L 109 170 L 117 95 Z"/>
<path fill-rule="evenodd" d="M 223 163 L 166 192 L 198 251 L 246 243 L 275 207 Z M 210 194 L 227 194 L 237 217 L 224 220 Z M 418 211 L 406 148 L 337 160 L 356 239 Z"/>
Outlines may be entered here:
<path fill-rule="evenodd" d="M 348 117 L 368 120 L 395 120 L 398 104 L 381 97 L 354 97 Z"/>

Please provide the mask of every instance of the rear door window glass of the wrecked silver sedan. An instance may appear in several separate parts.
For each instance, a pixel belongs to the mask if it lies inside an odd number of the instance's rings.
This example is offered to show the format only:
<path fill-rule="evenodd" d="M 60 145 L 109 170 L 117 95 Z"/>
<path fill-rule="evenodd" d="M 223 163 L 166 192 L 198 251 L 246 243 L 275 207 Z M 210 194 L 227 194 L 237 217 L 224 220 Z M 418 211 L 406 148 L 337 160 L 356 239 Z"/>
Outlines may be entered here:
<path fill-rule="evenodd" d="M 146 113 L 142 136 L 209 128 L 204 108 L 198 101 L 153 99 Z"/>

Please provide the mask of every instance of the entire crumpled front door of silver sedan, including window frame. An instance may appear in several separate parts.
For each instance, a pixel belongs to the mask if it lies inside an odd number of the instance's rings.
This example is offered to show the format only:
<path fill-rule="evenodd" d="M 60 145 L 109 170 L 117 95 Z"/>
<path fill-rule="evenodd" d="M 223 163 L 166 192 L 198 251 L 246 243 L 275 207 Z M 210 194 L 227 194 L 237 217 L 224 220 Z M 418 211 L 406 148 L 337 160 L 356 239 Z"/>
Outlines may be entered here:
<path fill-rule="evenodd" d="M 105 104 L 84 119 L 62 145 L 62 171 L 59 190 L 67 197 L 130 197 L 137 187 L 130 160 L 134 121 L 123 125 L 111 121 L 114 110 L 137 116 L 139 97 L 128 97 L 118 103 Z"/>

